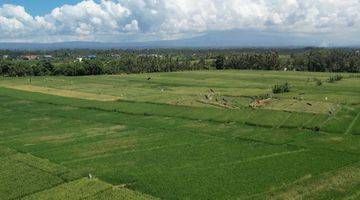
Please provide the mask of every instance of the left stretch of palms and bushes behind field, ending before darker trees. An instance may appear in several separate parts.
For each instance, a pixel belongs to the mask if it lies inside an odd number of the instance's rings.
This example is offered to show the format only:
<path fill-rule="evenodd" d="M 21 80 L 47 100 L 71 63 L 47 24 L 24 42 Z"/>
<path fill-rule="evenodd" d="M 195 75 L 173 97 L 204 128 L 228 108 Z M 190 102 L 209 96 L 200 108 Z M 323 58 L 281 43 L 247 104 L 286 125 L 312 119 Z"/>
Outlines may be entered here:
<path fill-rule="evenodd" d="M 47 60 L 22 61 L 1 60 L 0 74 L 3 76 L 84 76 L 119 73 L 153 73 L 180 70 L 206 69 L 205 62 L 191 62 L 173 57 L 130 56 L 122 59 L 86 59 L 52 63 Z"/>

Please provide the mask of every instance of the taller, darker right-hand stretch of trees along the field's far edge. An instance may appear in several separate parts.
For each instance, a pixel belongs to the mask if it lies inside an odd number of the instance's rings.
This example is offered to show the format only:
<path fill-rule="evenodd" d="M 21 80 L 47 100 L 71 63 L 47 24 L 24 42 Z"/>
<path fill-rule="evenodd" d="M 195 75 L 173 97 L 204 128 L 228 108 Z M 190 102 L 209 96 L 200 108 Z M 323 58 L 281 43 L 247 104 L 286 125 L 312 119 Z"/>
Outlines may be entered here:
<path fill-rule="evenodd" d="M 360 53 L 342 50 L 312 50 L 279 55 L 267 53 L 241 53 L 219 55 L 216 69 L 296 70 L 314 72 L 360 72 Z"/>

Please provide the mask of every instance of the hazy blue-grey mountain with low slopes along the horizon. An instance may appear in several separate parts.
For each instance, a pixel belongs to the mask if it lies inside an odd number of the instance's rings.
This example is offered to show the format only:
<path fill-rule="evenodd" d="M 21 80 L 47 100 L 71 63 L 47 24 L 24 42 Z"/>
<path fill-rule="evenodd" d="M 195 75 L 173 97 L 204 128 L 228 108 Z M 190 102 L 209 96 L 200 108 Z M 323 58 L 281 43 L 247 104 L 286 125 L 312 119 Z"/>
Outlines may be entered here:
<path fill-rule="evenodd" d="M 331 35 L 294 35 L 251 30 L 214 31 L 189 39 L 152 42 L 61 42 L 61 43 L 0 43 L 0 49 L 132 49 L 132 48 L 235 48 L 235 47 L 336 47 L 359 46 L 359 41 L 337 40 Z"/>

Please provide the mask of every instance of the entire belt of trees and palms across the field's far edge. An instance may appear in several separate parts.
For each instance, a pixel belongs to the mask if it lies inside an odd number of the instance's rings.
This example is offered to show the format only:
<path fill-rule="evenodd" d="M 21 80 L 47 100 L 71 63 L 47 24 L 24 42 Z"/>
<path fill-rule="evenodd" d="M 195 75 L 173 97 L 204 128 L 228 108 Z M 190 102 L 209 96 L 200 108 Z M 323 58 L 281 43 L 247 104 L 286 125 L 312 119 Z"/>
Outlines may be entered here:
<path fill-rule="evenodd" d="M 55 52 L 65 55 L 66 51 Z M 76 53 L 76 52 L 75 52 Z M 360 72 L 360 53 L 347 49 L 309 50 L 155 50 L 138 52 L 93 51 L 96 59 L 0 60 L 3 76 L 83 76 L 118 73 L 173 72 L 181 70 L 250 69 L 318 72 Z M 71 53 L 74 55 L 74 52 Z M 75 57 L 75 56 L 73 56 Z"/>

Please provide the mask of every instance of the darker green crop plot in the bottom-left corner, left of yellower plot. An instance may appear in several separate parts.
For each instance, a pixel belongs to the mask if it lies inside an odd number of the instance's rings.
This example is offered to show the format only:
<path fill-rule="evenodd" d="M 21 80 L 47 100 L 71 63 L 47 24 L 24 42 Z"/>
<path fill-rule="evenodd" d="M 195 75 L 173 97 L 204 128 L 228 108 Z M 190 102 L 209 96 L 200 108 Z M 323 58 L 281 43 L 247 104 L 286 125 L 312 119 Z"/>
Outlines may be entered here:
<path fill-rule="evenodd" d="M 16 199 L 77 178 L 63 166 L 0 147 L 0 199 Z"/>

